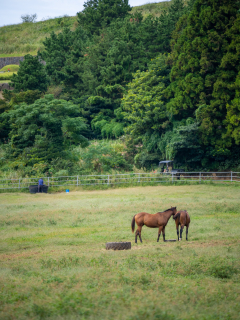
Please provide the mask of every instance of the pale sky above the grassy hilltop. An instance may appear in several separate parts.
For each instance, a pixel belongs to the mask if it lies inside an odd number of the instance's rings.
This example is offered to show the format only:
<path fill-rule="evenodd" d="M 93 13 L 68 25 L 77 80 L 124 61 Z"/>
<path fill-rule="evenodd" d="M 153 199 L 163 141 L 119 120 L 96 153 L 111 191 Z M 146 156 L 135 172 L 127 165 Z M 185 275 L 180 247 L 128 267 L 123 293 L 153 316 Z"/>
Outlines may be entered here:
<path fill-rule="evenodd" d="M 163 0 L 129 0 L 132 7 Z M 164 0 L 168 1 L 168 0 Z M 86 0 L 0 0 L 0 26 L 21 23 L 21 15 L 37 14 L 37 21 L 65 14 L 75 16 Z"/>

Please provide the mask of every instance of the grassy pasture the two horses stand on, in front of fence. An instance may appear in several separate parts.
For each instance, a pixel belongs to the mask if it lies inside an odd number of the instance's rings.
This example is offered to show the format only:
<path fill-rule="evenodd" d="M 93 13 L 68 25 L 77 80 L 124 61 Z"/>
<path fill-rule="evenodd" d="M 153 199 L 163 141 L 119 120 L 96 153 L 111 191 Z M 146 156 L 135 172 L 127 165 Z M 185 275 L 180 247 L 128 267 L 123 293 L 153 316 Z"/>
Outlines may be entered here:
<path fill-rule="evenodd" d="M 238 186 L 0 194 L 0 319 L 239 319 Z M 181 242 L 134 214 L 187 209 Z M 166 239 L 177 238 L 171 218 Z M 127 251 L 105 243 L 131 241 Z"/>

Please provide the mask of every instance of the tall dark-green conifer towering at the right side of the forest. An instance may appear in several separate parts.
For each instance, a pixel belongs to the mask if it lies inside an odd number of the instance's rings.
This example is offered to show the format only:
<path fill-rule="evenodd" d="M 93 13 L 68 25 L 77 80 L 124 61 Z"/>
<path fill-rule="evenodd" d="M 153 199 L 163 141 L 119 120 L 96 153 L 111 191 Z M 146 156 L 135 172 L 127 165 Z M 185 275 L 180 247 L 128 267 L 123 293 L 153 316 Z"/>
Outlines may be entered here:
<path fill-rule="evenodd" d="M 212 154 L 225 150 L 227 155 L 232 143 L 225 127 L 226 107 L 234 99 L 239 67 L 229 45 L 239 9 L 235 0 L 197 0 L 177 26 L 169 59 L 167 109 L 174 119 L 196 117 L 201 143 L 215 149 Z"/>

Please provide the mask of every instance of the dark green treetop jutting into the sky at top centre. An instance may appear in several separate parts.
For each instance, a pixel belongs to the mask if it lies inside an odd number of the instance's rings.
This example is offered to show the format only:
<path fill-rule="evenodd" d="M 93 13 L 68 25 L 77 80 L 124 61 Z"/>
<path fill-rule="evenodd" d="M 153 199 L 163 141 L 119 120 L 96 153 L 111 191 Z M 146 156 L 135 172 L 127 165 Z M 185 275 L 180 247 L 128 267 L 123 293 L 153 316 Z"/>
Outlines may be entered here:
<path fill-rule="evenodd" d="M 78 23 L 91 34 L 99 33 L 117 18 L 124 18 L 131 7 L 128 0 L 88 0 L 84 10 L 78 12 Z"/>

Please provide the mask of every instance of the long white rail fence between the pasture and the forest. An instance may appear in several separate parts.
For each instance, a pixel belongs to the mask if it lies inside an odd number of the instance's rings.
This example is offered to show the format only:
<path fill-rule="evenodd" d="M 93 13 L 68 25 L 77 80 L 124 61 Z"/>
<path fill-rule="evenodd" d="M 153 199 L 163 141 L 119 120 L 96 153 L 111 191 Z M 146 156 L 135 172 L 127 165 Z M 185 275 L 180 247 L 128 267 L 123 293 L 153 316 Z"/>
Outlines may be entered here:
<path fill-rule="evenodd" d="M 38 178 L 0 179 L 0 190 L 23 189 L 38 184 Z M 160 184 L 174 183 L 176 181 L 225 181 L 240 182 L 240 172 L 184 172 L 175 174 L 171 172 L 150 173 L 123 173 L 113 175 L 77 175 L 62 177 L 45 177 L 44 184 L 48 187 L 60 186 L 93 186 L 93 185 L 117 185 L 117 184 Z"/>

